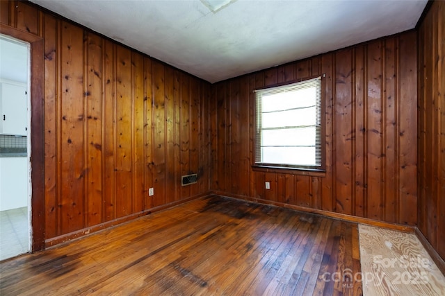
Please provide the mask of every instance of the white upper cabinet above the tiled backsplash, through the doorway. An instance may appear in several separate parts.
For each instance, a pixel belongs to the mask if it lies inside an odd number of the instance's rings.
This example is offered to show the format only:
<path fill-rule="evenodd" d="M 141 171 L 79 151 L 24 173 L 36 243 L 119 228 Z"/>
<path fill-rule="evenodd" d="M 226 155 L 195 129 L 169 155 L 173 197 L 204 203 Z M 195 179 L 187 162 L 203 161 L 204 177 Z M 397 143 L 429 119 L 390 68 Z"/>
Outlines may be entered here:
<path fill-rule="evenodd" d="M 28 96 L 26 85 L 0 83 L 0 133 L 27 134 Z"/>

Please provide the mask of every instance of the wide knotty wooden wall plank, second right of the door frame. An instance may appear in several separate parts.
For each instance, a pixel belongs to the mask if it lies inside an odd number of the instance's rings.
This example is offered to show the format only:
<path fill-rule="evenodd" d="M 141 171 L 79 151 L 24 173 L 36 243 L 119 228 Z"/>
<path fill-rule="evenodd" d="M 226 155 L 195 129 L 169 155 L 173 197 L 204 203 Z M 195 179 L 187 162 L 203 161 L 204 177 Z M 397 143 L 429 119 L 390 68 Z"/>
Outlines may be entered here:
<path fill-rule="evenodd" d="M 63 233 L 82 229 L 83 221 L 83 31 L 62 23 L 61 46 L 61 218 Z"/>

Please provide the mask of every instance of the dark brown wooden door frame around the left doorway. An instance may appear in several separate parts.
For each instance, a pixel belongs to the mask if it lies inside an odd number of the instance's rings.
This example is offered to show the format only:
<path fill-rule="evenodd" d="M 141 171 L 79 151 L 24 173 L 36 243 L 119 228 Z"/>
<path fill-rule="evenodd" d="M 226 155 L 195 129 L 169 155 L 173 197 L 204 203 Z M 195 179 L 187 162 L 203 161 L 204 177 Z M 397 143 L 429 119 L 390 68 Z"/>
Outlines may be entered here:
<path fill-rule="evenodd" d="M 31 252 L 44 250 L 43 38 L 0 24 L 0 33 L 30 44 L 31 61 Z"/>

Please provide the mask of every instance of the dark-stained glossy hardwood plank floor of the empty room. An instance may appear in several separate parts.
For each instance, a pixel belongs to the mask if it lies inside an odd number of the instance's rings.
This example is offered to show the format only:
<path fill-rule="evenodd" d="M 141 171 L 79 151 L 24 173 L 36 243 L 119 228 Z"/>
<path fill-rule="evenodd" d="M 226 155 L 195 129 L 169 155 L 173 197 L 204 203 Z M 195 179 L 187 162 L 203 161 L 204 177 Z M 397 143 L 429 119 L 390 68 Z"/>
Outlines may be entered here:
<path fill-rule="evenodd" d="M 361 295 L 344 270 L 357 224 L 213 196 L 3 261 L 0 295 Z"/>

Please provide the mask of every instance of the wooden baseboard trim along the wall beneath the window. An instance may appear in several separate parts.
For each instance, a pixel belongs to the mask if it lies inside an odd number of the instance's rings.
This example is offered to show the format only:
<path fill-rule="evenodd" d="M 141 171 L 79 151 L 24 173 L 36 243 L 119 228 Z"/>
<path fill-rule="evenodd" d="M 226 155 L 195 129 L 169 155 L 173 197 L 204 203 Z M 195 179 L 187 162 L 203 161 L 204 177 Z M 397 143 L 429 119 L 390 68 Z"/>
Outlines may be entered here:
<path fill-rule="evenodd" d="M 312 208 L 308 208 L 308 207 L 296 206 L 294 204 L 286 204 L 284 202 L 263 200 L 261 198 L 250 198 L 250 197 L 247 197 L 244 195 L 236 195 L 236 194 L 231 194 L 231 193 L 225 193 L 222 191 L 212 191 L 212 193 L 215 195 L 225 196 L 227 198 L 236 198 L 238 200 L 248 200 L 251 202 L 257 202 L 259 204 L 271 204 L 271 205 L 275 205 L 277 207 L 285 207 L 288 209 L 294 209 L 296 211 L 304 211 L 307 213 L 323 215 L 323 216 L 327 216 L 330 218 L 344 220 L 344 221 L 348 221 L 348 222 L 360 223 L 360 224 L 365 224 L 365 225 L 370 225 L 370 226 L 375 226 L 375 227 L 382 227 L 385 229 L 398 230 L 399 232 L 414 233 L 415 229 L 416 229 L 416 227 L 410 226 L 410 225 L 401 225 L 401 224 L 397 224 L 397 223 L 378 221 L 378 220 L 373 220 L 373 219 L 369 219 L 369 218 L 352 216 L 352 215 L 348 215 L 348 214 L 339 214 L 339 213 L 334 213 L 332 211 L 325 211 L 322 209 L 312 209 Z"/>

